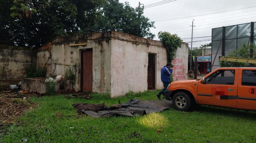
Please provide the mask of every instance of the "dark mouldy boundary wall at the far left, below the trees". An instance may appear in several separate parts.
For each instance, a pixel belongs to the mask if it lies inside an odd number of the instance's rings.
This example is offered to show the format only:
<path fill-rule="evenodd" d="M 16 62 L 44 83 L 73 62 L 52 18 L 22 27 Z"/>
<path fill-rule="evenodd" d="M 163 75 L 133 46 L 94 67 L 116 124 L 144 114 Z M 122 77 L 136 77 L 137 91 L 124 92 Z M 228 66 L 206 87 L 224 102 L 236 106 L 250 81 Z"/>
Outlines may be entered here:
<path fill-rule="evenodd" d="M 26 77 L 26 67 L 31 63 L 36 63 L 36 51 L 0 45 L 0 86 L 18 84 Z"/>

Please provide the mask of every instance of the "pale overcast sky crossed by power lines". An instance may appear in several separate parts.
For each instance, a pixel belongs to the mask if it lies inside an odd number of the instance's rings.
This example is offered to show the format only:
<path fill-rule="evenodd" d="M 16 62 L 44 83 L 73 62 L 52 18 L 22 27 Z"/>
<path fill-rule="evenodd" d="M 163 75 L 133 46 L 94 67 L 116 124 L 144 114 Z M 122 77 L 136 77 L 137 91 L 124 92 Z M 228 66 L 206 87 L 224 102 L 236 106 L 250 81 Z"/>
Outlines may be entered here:
<path fill-rule="evenodd" d="M 135 8 L 141 4 L 150 5 L 152 3 L 161 2 L 163 0 L 119 0 L 120 2 L 129 2 Z M 167 2 L 169 0 L 166 0 Z M 143 5 L 141 5 L 143 6 Z M 255 7 L 253 7 L 255 6 Z M 149 6 L 148 6 L 149 7 Z M 252 7 L 252 8 L 247 8 Z M 246 8 L 246 9 L 241 9 Z M 235 10 L 240 9 L 240 10 Z M 234 11 L 229 11 L 234 10 Z M 229 11 L 229 12 L 223 12 Z M 223 12 L 223 13 L 217 13 Z M 217 13 L 217 14 L 211 14 Z M 210 14 L 210 15 L 204 15 Z M 204 16 L 197 16 L 204 15 Z M 181 38 L 191 38 L 192 19 L 194 21 L 193 37 L 211 36 L 211 29 L 248 23 L 256 21 L 256 0 L 176 0 L 170 3 L 162 4 L 155 7 L 145 8 L 144 16 L 151 21 L 156 21 L 156 29 L 152 28 L 151 32 L 156 34 L 155 40 L 158 40 L 157 33 L 159 31 L 168 31 L 176 33 Z M 195 17 L 191 17 L 195 16 Z M 184 18 L 190 17 L 190 18 Z M 165 19 L 173 19 L 166 21 L 158 21 Z M 193 47 L 204 45 L 211 42 L 211 37 L 193 39 L 193 41 L 202 40 L 200 42 L 193 42 Z M 209 40 L 209 41 L 207 41 Z M 184 42 L 189 42 L 191 46 L 191 39 L 184 39 Z"/>

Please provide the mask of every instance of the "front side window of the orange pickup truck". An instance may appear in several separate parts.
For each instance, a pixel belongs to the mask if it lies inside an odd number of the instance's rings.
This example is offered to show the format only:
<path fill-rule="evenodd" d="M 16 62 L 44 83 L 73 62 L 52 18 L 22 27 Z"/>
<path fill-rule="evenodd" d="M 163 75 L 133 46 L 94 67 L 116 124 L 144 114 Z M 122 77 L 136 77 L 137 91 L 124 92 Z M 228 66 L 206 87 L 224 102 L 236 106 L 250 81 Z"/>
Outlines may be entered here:
<path fill-rule="evenodd" d="M 218 70 L 205 79 L 205 84 L 234 85 L 234 70 Z"/>

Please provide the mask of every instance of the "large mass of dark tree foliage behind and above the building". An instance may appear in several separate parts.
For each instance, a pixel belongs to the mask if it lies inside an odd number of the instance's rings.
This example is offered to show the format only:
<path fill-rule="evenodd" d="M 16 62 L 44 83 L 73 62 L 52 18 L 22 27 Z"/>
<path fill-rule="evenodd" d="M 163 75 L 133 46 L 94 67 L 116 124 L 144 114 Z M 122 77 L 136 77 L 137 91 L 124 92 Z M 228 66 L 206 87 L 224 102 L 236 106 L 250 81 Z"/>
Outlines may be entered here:
<path fill-rule="evenodd" d="M 0 44 L 38 48 L 56 36 L 116 30 L 154 38 L 154 22 L 118 0 L 0 0 Z M 143 14 L 143 9 L 140 9 Z"/>

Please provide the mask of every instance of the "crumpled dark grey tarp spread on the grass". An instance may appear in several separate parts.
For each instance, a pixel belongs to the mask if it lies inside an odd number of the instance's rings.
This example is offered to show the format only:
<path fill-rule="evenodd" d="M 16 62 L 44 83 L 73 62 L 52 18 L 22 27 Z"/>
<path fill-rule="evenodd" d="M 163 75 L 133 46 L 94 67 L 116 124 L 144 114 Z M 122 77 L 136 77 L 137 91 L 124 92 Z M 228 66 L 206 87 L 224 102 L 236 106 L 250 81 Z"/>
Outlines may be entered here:
<path fill-rule="evenodd" d="M 104 103 L 84 104 L 75 103 L 72 106 L 78 110 L 79 113 L 85 113 L 94 118 L 110 117 L 110 116 L 143 116 L 153 112 L 162 112 L 169 109 L 172 101 L 168 100 L 139 100 L 131 99 L 123 104 L 106 107 Z"/>

